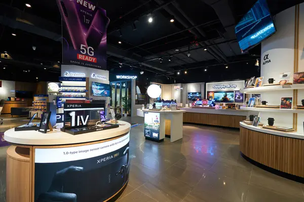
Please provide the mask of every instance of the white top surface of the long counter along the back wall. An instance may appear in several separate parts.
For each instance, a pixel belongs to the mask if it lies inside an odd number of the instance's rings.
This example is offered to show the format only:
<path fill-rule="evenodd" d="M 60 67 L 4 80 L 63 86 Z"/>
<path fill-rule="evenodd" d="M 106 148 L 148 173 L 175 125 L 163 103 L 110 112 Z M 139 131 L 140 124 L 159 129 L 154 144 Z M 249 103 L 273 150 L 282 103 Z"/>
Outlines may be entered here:
<path fill-rule="evenodd" d="M 179 108 L 186 112 L 192 113 L 204 113 L 204 114 L 222 114 L 222 115 L 236 115 L 236 116 L 247 116 L 248 111 L 246 110 L 233 110 L 233 109 L 210 109 L 208 107 L 202 108 Z"/>

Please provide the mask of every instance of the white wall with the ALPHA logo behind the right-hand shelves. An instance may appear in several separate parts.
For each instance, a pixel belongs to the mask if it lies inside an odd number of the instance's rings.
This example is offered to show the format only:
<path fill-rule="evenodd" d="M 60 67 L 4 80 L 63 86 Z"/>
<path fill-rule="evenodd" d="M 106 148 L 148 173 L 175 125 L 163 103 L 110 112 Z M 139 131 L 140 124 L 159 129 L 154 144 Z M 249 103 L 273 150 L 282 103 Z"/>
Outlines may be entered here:
<path fill-rule="evenodd" d="M 293 75 L 295 61 L 295 7 L 289 8 L 275 16 L 277 32 L 261 44 L 261 76 L 263 83 L 268 83 L 269 78 L 280 81 L 280 73 L 291 72 Z M 299 41 L 298 41 L 298 72 L 304 71 L 304 3 L 300 4 L 299 12 Z M 268 58 L 268 59 L 267 59 Z M 264 60 L 265 59 L 265 60 Z M 265 63 L 265 61 L 271 61 Z M 291 81 L 292 82 L 292 81 Z M 261 93 L 261 100 L 268 102 L 268 105 L 280 105 L 281 97 L 292 97 L 292 90 L 268 91 Z M 304 99 L 304 90 L 298 90 L 297 104 Z M 293 100 L 295 102 L 295 100 Z M 268 113 L 260 112 L 261 123 L 267 124 L 267 119 L 273 117 L 275 125 L 290 127 L 293 125 L 292 113 Z M 303 133 L 304 114 L 297 114 L 297 130 Z"/>

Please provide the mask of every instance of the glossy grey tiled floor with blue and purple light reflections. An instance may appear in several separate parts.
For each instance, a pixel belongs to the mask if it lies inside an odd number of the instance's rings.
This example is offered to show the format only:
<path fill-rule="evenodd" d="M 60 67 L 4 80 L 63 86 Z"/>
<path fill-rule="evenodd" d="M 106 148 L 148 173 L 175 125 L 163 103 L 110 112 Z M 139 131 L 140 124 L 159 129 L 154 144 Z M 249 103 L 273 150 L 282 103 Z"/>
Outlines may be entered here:
<path fill-rule="evenodd" d="M 0 132 L 25 120 L 6 118 Z M 123 119 L 143 122 L 140 117 Z M 130 181 L 118 201 L 304 201 L 304 184 L 259 169 L 240 156 L 239 130 L 184 125 L 183 135 L 173 143 L 167 138 L 157 143 L 144 139 L 143 125 L 132 127 Z M 5 201 L 6 148 L 0 147 L 0 202 Z"/>

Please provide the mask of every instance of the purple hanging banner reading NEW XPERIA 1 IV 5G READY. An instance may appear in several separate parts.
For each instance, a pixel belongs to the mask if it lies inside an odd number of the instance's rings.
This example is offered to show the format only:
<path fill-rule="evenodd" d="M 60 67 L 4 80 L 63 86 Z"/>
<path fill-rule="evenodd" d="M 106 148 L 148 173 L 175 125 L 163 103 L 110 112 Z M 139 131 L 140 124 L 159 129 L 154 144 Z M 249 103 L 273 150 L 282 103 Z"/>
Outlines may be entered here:
<path fill-rule="evenodd" d="M 56 0 L 62 17 L 62 62 L 106 68 L 106 11 L 87 0 Z"/>

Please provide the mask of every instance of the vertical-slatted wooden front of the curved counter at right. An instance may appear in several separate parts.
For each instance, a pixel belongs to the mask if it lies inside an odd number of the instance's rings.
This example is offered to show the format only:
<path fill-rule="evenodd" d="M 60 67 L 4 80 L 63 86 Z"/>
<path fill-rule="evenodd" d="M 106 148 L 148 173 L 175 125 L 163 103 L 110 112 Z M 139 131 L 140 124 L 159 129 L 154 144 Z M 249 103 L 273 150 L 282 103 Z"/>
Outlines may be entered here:
<path fill-rule="evenodd" d="M 240 128 L 240 150 L 270 168 L 304 177 L 304 140 Z"/>

